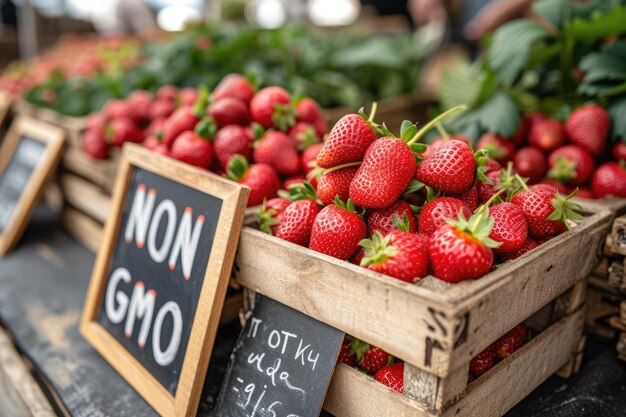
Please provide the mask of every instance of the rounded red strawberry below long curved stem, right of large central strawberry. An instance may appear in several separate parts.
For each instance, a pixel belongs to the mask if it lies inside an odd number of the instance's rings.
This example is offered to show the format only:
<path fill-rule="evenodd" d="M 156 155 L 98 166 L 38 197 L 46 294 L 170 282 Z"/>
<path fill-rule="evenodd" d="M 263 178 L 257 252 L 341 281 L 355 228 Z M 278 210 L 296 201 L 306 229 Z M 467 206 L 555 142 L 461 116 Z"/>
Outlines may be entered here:
<path fill-rule="evenodd" d="M 474 154 L 469 145 L 458 140 L 445 142 L 417 167 L 419 181 L 450 194 L 468 190 L 474 184 L 475 174 Z"/>

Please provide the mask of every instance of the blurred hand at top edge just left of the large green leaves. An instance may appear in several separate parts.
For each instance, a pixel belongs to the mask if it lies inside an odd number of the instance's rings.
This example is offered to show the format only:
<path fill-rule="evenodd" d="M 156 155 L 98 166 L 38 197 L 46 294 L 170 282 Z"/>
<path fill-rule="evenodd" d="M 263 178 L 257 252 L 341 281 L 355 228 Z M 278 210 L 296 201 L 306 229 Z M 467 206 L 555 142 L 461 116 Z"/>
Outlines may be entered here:
<path fill-rule="evenodd" d="M 494 0 L 474 17 L 464 29 L 469 40 L 478 40 L 500 25 L 530 11 L 533 0 Z"/>

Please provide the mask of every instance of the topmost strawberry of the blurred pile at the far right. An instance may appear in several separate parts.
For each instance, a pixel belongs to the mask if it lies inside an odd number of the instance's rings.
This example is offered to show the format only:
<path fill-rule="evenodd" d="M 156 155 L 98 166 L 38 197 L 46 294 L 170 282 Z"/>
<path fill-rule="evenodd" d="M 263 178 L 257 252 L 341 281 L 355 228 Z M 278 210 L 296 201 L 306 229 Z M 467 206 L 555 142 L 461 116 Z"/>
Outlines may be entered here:
<path fill-rule="evenodd" d="M 609 114 L 596 104 L 578 107 L 565 122 L 569 140 L 595 156 L 602 154 L 610 128 Z"/>

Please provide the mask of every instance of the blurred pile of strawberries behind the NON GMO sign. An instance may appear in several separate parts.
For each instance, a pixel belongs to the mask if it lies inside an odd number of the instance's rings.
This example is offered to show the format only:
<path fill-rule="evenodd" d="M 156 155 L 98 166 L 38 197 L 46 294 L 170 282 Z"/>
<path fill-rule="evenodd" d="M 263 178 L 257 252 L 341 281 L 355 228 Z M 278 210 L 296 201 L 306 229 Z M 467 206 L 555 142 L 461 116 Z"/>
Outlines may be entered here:
<path fill-rule="evenodd" d="M 212 94 L 165 86 L 155 95 L 135 91 L 111 101 L 90 116 L 82 145 L 106 159 L 111 148 L 142 143 L 248 186 L 248 206 L 255 206 L 304 181 L 316 154 L 310 148 L 321 146 L 326 130 L 314 100 L 293 99 L 281 87 L 255 92 L 249 80 L 231 74 Z"/>

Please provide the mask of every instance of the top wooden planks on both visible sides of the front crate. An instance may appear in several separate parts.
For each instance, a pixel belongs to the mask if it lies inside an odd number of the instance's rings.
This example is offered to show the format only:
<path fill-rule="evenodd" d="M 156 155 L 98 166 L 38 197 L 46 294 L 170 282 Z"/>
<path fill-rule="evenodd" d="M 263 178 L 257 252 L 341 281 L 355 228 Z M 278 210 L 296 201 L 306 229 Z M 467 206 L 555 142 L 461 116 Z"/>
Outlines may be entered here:
<path fill-rule="evenodd" d="M 611 220 L 610 211 L 594 214 L 495 272 L 456 285 L 434 277 L 407 284 L 244 228 L 236 280 L 443 377 L 586 277 Z"/>

